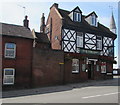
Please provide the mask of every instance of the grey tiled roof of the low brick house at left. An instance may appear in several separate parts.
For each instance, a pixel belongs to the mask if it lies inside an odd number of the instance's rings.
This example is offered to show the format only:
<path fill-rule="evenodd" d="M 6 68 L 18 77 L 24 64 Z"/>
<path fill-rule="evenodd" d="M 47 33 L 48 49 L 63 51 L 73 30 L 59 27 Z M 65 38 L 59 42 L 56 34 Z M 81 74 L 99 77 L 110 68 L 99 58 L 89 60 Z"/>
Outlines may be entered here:
<path fill-rule="evenodd" d="M 2 28 L 0 35 L 33 39 L 31 30 L 24 26 L 0 23 L 0 27 Z"/>

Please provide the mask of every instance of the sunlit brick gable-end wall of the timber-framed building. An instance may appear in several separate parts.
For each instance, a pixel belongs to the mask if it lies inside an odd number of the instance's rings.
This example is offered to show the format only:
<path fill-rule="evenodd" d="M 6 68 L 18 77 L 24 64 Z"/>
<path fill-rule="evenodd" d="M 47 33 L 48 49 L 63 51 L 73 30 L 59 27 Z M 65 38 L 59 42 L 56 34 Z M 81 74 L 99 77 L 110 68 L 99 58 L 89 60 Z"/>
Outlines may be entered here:
<path fill-rule="evenodd" d="M 48 17 L 48 21 L 46 23 L 46 26 L 48 24 L 51 24 L 51 18 L 52 18 L 52 42 L 51 47 L 52 49 L 61 49 L 61 27 L 62 27 L 62 20 L 59 16 L 59 13 L 57 12 L 57 9 L 55 7 L 52 7 L 50 9 L 50 14 Z M 55 36 L 58 36 L 58 40 L 55 40 Z M 50 34 L 48 34 L 48 37 L 50 38 Z"/>

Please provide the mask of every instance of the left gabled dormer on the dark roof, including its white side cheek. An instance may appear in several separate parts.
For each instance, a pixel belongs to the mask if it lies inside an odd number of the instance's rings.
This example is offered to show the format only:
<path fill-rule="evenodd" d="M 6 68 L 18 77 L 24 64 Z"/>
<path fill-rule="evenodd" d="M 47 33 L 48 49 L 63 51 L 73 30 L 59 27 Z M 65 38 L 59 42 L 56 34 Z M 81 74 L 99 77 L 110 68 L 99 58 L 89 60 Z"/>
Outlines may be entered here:
<path fill-rule="evenodd" d="M 72 21 L 81 22 L 82 11 L 79 9 L 79 7 L 76 7 L 74 10 L 71 11 L 69 17 L 71 18 Z"/>

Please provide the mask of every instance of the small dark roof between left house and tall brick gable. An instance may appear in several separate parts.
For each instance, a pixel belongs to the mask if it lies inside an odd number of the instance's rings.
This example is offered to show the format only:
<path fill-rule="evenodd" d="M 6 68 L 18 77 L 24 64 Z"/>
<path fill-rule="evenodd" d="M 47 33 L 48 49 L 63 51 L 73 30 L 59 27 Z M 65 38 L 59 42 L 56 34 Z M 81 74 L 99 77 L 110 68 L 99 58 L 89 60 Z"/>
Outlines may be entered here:
<path fill-rule="evenodd" d="M 44 33 L 35 32 L 36 41 L 40 43 L 50 43 L 48 37 Z"/>

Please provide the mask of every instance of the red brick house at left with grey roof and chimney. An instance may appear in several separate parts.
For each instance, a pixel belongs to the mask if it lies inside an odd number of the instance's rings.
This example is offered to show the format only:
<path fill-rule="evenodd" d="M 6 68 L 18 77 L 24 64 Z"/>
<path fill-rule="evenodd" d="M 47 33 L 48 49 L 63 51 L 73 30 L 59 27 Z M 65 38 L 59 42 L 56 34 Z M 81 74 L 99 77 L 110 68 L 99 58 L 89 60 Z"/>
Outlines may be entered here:
<path fill-rule="evenodd" d="M 0 23 L 2 32 L 2 86 L 29 87 L 32 76 L 33 35 L 27 16 L 23 26 Z"/>

